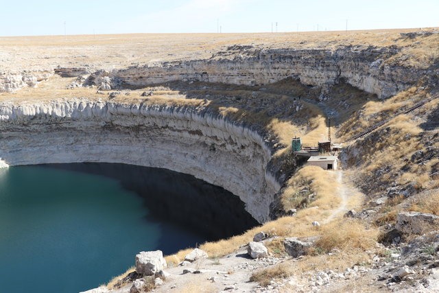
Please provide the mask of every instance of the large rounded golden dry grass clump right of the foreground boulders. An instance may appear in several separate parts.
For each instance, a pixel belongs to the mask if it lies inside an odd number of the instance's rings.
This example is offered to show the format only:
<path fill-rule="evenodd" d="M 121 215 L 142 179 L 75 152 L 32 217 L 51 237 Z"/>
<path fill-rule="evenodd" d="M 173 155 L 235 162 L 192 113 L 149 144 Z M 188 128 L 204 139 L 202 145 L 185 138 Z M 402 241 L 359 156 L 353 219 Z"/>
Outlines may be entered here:
<path fill-rule="evenodd" d="M 366 228 L 359 220 L 350 219 L 331 222 L 322 226 L 321 231 L 316 246 L 327 252 L 333 248 L 367 250 L 375 246 L 378 237 L 375 228 Z"/>

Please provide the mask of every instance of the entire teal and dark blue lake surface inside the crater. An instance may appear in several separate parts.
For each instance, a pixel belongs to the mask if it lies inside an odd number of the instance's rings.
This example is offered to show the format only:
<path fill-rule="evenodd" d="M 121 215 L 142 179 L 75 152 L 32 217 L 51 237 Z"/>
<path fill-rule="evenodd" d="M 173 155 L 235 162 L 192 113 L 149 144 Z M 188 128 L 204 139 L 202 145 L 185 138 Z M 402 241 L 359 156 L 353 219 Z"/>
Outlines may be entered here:
<path fill-rule="evenodd" d="M 123 164 L 0 169 L 0 292 L 79 292 L 134 266 L 257 222 L 228 191 Z"/>

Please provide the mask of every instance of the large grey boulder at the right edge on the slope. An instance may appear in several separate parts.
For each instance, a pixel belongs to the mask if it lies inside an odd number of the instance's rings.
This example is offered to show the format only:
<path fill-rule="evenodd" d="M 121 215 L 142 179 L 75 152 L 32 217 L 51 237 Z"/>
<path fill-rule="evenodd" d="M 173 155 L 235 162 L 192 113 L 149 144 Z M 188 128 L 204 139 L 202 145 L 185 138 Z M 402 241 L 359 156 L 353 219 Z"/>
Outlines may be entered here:
<path fill-rule="evenodd" d="M 431 213 L 402 211 L 396 216 L 395 229 L 405 234 L 422 234 L 429 226 L 439 224 L 439 216 Z"/>

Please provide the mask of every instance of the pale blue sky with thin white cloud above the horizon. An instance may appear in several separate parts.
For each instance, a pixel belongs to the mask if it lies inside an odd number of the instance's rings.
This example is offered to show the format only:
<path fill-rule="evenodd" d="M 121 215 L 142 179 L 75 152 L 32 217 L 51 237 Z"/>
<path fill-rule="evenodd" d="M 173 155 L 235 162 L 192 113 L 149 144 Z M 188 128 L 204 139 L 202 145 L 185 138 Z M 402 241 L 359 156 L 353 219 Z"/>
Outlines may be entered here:
<path fill-rule="evenodd" d="M 0 0 L 0 36 L 439 27 L 439 0 Z"/>

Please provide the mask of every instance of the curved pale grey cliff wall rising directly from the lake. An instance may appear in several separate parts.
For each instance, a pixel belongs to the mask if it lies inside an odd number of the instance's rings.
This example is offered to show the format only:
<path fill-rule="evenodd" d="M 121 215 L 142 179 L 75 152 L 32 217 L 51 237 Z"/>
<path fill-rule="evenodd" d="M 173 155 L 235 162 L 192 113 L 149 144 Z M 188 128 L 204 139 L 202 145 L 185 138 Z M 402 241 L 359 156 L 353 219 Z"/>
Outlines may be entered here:
<path fill-rule="evenodd" d="M 219 185 L 268 220 L 280 189 L 271 150 L 206 108 L 90 102 L 0 104 L 0 157 L 9 165 L 107 162 L 163 167 Z"/>

